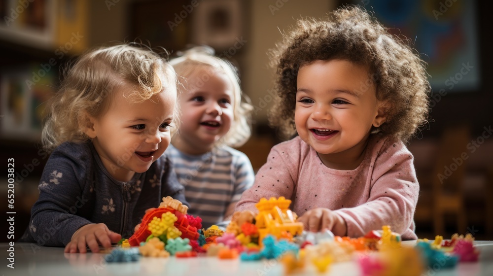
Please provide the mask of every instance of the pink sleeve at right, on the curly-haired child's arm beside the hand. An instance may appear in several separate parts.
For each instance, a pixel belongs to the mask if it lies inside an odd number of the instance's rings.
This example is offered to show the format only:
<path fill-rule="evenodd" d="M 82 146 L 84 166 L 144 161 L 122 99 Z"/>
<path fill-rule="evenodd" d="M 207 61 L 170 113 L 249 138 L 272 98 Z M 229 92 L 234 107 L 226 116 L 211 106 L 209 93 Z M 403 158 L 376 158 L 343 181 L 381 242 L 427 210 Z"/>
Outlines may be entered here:
<path fill-rule="evenodd" d="M 370 230 L 390 225 L 404 240 L 416 239 L 414 211 L 418 202 L 419 184 L 413 156 L 402 142 L 388 143 L 373 164 L 370 195 L 365 204 L 335 210 L 348 226 L 347 235 L 360 237 Z M 375 158 L 375 157 L 372 157 Z M 370 170 L 371 172 L 371 170 Z"/>

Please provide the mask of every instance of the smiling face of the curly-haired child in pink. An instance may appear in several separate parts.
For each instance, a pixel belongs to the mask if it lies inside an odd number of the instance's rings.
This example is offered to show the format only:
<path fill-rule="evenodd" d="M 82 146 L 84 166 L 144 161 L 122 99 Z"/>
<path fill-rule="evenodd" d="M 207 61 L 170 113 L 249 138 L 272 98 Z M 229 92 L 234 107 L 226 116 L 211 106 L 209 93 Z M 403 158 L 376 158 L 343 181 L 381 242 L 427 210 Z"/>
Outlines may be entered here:
<path fill-rule="evenodd" d="M 385 122 L 369 71 L 345 60 L 315 61 L 299 69 L 295 124 L 328 167 L 361 163 L 372 125 Z"/>

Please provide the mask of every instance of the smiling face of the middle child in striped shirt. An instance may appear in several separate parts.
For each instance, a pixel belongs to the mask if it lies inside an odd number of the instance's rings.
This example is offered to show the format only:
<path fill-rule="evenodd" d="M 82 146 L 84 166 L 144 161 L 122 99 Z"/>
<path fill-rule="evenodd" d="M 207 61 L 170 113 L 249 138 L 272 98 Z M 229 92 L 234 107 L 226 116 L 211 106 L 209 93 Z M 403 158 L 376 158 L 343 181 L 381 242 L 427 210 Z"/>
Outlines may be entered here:
<path fill-rule="evenodd" d="M 181 123 L 173 145 L 188 154 L 203 154 L 224 137 L 233 121 L 233 86 L 214 69 L 198 67 L 186 78 L 178 100 Z"/>

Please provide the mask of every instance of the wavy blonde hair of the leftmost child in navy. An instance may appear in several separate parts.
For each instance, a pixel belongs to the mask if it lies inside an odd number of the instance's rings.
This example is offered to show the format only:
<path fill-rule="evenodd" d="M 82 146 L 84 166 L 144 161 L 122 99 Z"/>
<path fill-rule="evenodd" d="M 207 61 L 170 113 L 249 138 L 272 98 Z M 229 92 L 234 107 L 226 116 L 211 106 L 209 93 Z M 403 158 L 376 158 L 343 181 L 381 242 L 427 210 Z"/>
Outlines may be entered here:
<path fill-rule="evenodd" d="M 43 146 L 51 152 L 65 141 L 88 140 L 87 115 L 104 115 L 118 89 L 130 91 L 129 101 L 142 102 L 176 82 L 163 57 L 135 42 L 89 51 L 65 69 L 60 89 L 47 103 Z"/>

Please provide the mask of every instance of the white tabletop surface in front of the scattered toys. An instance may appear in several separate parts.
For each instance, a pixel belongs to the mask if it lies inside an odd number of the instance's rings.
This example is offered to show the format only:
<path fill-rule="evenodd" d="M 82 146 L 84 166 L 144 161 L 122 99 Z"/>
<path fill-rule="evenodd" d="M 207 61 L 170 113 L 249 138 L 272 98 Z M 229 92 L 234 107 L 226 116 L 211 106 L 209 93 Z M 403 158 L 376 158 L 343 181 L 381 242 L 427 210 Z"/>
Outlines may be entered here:
<path fill-rule="evenodd" d="M 493 276 L 493 242 L 476 241 L 480 253 L 477 263 L 459 263 L 454 269 L 440 269 L 425 272 L 424 276 Z M 141 257 L 132 263 L 106 263 L 100 253 L 64 253 L 64 248 L 40 247 L 31 243 L 15 243 L 15 269 L 7 267 L 8 246 L 0 243 L 2 266 L 0 275 L 190 275 L 190 276 L 221 276 L 221 275 L 284 275 L 284 269 L 276 260 L 245 262 L 221 260 L 217 257 L 197 258 L 151 258 Z M 303 274 L 295 275 L 331 275 L 359 276 L 359 266 L 355 262 L 336 263 L 330 266 L 325 274 L 317 274 L 310 265 Z"/>

